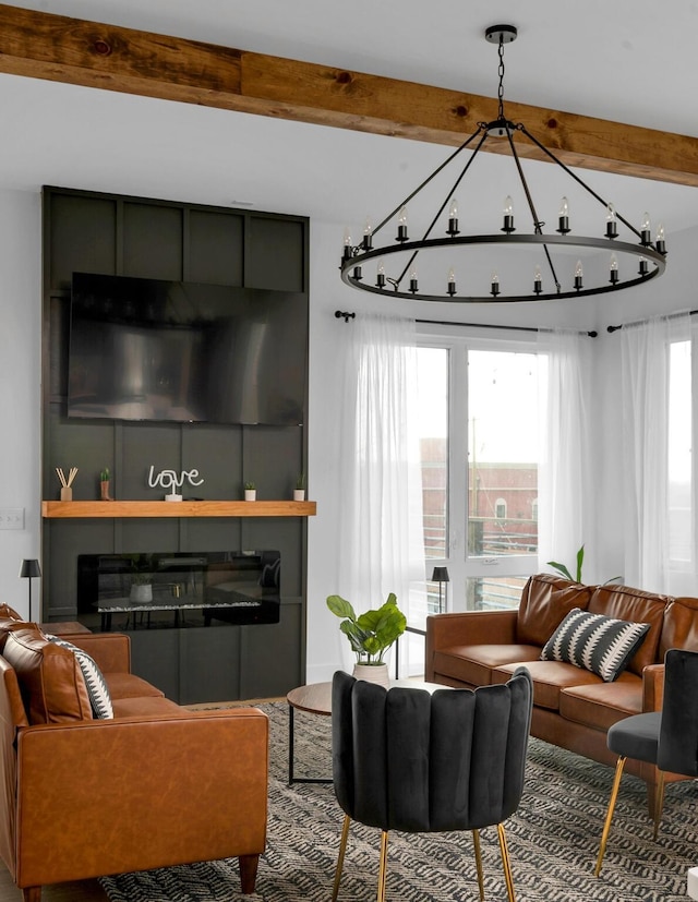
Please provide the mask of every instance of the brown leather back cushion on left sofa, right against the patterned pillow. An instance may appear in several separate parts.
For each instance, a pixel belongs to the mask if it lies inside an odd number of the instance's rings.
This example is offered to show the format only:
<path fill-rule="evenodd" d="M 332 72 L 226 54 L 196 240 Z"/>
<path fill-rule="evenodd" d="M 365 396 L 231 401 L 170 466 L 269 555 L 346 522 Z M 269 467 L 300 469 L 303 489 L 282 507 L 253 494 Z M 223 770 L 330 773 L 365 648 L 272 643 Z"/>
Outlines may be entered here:
<path fill-rule="evenodd" d="M 8 634 L 2 653 L 17 675 L 29 723 L 92 720 L 85 678 L 71 651 L 27 625 Z"/>

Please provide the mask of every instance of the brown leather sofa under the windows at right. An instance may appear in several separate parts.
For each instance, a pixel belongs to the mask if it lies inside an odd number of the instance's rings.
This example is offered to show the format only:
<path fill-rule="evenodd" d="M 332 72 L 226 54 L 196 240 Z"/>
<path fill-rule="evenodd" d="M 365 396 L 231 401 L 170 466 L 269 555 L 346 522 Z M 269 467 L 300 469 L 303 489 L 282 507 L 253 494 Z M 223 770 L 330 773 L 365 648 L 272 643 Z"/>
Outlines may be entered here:
<path fill-rule="evenodd" d="M 575 608 L 650 625 L 614 682 L 574 664 L 540 660 L 543 646 Z M 428 617 L 425 678 L 474 688 L 506 683 L 524 664 L 533 679 L 531 735 L 614 765 L 606 731 L 622 718 L 661 709 L 670 648 L 698 650 L 698 599 L 628 586 L 582 586 L 539 574 L 526 584 L 518 610 Z M 638 761 L 628 761 L 626 769 L 647 782 L 651 805 L 657 769 Z"/>

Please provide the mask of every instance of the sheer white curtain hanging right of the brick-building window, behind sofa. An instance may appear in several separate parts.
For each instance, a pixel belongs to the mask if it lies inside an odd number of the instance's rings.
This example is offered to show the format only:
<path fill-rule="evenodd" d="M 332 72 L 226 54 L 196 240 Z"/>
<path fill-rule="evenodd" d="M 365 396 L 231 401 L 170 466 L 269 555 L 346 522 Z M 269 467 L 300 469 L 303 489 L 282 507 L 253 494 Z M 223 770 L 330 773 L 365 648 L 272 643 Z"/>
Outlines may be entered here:
<path fill-rule="evenodd" d="M 588 399 L 591 338 L 578 332 L 540 332 L 538 350 L 547 360 L 541 378 L 541 445 L 538 469 L 539 568 L 547 561 L 565 564 L 575 576 L 585 544 L 587 566 L 593 549 L 593 493 L 589 491 Z"/>

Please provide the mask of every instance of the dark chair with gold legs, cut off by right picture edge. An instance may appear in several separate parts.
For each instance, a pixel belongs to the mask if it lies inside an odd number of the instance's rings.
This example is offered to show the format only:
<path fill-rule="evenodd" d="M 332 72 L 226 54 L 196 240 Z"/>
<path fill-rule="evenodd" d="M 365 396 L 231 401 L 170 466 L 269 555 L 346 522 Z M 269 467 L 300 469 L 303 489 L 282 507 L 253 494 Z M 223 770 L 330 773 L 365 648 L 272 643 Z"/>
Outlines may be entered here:
<path fill-rule="evenodd" d="M 613 820 L 623 768 L 627 758 L 657 765 L 659 780 L 654 801 L 654 839 L 664 807 L 664 774 L 698 775 L 698 652 L 671 648 L 664 656 L 662 710 L 634 714 L 614 723 L 607 734 L 609 748 L 618 756 L 609 801 L 597 877 Z"/>

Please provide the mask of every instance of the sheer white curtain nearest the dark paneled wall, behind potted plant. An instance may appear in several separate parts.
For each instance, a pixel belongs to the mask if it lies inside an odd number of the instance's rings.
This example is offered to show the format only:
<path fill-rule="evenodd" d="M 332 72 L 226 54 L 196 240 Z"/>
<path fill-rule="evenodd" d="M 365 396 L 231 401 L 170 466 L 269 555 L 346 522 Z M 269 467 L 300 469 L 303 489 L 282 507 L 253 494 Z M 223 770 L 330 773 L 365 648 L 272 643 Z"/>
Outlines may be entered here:
<path fill-rule="evenodd" d="M 424 582 L 414 321 L 359 313 L 342 327 L 339 585 L 357 613 Z M 345 662 L 351 660 L 344 642 Z"/>

